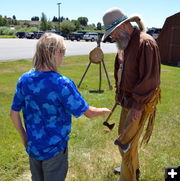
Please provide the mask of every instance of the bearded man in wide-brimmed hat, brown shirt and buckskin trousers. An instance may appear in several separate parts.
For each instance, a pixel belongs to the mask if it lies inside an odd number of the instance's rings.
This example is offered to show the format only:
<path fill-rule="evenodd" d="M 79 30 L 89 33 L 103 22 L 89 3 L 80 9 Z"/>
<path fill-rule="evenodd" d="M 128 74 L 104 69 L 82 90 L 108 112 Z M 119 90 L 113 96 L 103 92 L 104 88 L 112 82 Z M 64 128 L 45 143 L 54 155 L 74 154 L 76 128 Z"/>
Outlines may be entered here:
<path fill-rule="evenodd" d="M 106 28 L 103 41 L 110 37 L 118 47 L 115 100 L 122 109 L 114 144 L 122 156 L 120 181 L 136 181 L 140 175 L 138 141 L 147 121 L 142 141 L 149 141 L 160 98 L 159 49 L 153 37 L 144 32 L 138 16 L 127 17 L 120 9 L 112 8 L 104 14 L 103 22 Z M 132 26 L 132 22 L 138 26 Z"/>

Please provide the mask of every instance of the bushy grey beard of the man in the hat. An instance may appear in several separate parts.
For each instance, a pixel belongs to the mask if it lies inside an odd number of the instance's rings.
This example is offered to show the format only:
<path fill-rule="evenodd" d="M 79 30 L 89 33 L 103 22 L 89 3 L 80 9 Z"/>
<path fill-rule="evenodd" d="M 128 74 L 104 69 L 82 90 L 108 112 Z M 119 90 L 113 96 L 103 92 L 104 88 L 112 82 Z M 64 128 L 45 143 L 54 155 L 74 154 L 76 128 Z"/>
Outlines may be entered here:
<path fill-rule="evenodd" d="M 125 50 L 130 39 L 130 35 L 125 30 L 120 30 L 119 39 L 116 39 L 117 48 L 119 50 Z"/>

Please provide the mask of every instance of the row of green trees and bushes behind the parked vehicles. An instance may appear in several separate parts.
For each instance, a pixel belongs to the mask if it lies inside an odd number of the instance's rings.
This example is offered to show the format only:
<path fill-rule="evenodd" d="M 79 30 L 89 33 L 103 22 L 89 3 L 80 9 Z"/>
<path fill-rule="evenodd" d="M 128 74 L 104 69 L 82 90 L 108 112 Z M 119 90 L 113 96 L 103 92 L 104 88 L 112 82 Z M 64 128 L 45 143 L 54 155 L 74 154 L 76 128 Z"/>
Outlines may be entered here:
<path fill-rule="evenodd" d="M 77 20 L 69 20 L 69 18 L 60 17 L 57 18 L 54 16 L 52 20 L 48 20 L 45 13 L 41 14 L 41 17 L 33 16 L 31 18 L 31 21 L 25 20 L 16 20 L 16 16 L 13 15 L 12 18 L 9 18 L 7 16 L 1 16 L 0 15 L 0 26 L 25 26 L 25 27 L 32 27 L 36 26 L 38 29 L 42 31 L 47 31 L 51 29 L 55 29 L 57 31 L 60 31 L 62 33 L 71 33 L 78 30 L 85 30 L 85 29 L 91 29 L 91 30 L 102 30 L 103 27 L 101 23 L 95 24 L 88 24 L 88 18 L 87 17 L 79 17 Z"/>

